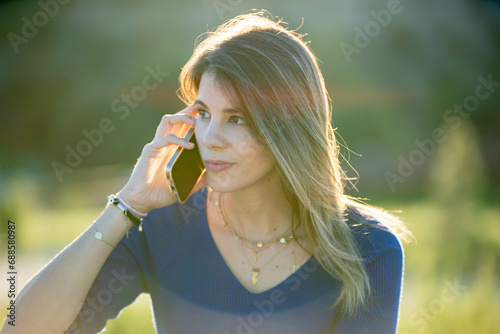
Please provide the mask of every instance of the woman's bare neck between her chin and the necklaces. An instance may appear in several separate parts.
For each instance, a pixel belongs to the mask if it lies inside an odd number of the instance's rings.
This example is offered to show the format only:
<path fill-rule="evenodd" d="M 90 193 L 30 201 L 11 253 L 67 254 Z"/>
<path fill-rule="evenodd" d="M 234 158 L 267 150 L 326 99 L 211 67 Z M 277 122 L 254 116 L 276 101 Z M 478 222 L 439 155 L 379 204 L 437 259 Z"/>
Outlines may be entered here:
<path fill-rule="evenodd" d="M 293 208 L 279 178 L 221 193 L 221 201 L 232 229 L 245 238 L 265 241 L 291 230 Z"/>

